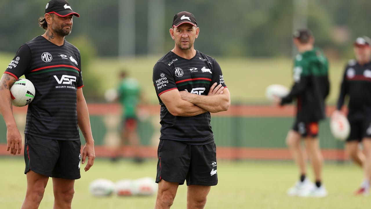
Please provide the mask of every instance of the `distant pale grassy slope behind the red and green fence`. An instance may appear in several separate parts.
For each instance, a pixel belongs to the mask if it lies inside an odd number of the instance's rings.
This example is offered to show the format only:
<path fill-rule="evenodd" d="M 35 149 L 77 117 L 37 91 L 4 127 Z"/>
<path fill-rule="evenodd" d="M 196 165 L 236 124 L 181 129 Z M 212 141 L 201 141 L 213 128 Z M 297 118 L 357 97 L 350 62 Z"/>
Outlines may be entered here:
<path fill-rule="evenodd" d="M 12 60 L 12 54 L 0 53 L 0 66 L 6 69 Z M 94 74 L 100 86 L 97 94 L 115 87 L 120 68 L 125 68 L 129 75 L 138 79 L 142 85 L 147 102 L 157 103 L 157 96 L 152 82 L 152 68 L 158 57 L 137 57 L 135 59 L 93 58 L 83 64 L 83 74 Z M 224 75 L 224 80 L 231 92 L 231 101 L 237 103 L 269 103 L 265 89 L 270 84 L 282 84 L 290 87 L 292 81 L 292 60 L 289 58 L 216 58 Z M 334 104 L 339 92 L 339 85 L 344 71 L 345 61 L 330 61 L 331 92 L 328 103 Z M 86 67 L 89 66 L 89 67 Z M 90 85 L 93 85 L 90 84 Z M 84 88 L 89 88 L 86 85 Z"/>

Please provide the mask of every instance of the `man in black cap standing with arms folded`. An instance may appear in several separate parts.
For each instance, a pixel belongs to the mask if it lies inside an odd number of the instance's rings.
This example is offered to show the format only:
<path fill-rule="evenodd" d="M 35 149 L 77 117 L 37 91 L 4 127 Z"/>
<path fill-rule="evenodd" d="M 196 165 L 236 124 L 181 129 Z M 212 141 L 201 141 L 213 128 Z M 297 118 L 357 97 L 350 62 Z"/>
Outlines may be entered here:
<path fill-rule="evenodd" d="M 187 208 L 204 208 L 210 187 L 218 183 L 210 112 L 226 111 L 230 94 L 217 61 L 194 49 L 199 30 L 191 13 L 176 14 L 170 29 L 174 49 L 153 68 L 161 105 L 156 209 L 173 205 L 184 180 Z"/>

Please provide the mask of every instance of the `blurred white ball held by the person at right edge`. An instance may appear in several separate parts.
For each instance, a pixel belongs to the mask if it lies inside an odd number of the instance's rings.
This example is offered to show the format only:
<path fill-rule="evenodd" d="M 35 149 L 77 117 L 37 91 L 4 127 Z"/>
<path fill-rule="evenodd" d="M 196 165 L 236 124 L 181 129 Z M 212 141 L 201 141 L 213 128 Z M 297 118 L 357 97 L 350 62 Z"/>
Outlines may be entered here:
<path fill-rule="evenodd" d="M 350 125 L 348 119 L 339 113 L 332 113 L 330 120 L 330 129 L 335 139 L 345 141 L 350 134 Z"/>

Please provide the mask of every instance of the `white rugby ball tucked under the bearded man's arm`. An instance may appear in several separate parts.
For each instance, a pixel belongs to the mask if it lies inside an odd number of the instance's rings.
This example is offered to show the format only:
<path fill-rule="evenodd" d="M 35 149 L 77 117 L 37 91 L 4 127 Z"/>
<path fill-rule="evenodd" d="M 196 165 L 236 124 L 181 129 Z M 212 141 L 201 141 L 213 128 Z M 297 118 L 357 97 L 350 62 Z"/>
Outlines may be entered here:
<path fill-rule="evenodd" d="M 14 106 L 26 106 L 35 98 L 35 87 L 30 80 L 20 78 L 10 88 L 10 96 Z"/>

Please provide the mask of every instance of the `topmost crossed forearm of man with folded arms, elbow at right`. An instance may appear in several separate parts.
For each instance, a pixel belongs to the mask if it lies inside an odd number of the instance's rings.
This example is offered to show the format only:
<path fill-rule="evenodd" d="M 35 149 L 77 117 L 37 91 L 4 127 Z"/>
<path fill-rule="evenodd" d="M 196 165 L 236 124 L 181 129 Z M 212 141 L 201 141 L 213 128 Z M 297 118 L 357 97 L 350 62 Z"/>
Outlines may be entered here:
<path fill-rule="evenodd" d="M 230 106 L 229 96 L 226 94 L 217 94 L 212 96 L 204 96 L 198 94 L 185 94 L 182 95 L 182 99 L 187 102 L 190 102 L 198 107 L 201 107 L 204 110 L 207 110 L 212 113 L 221 112 L 228 110 Z"/>

